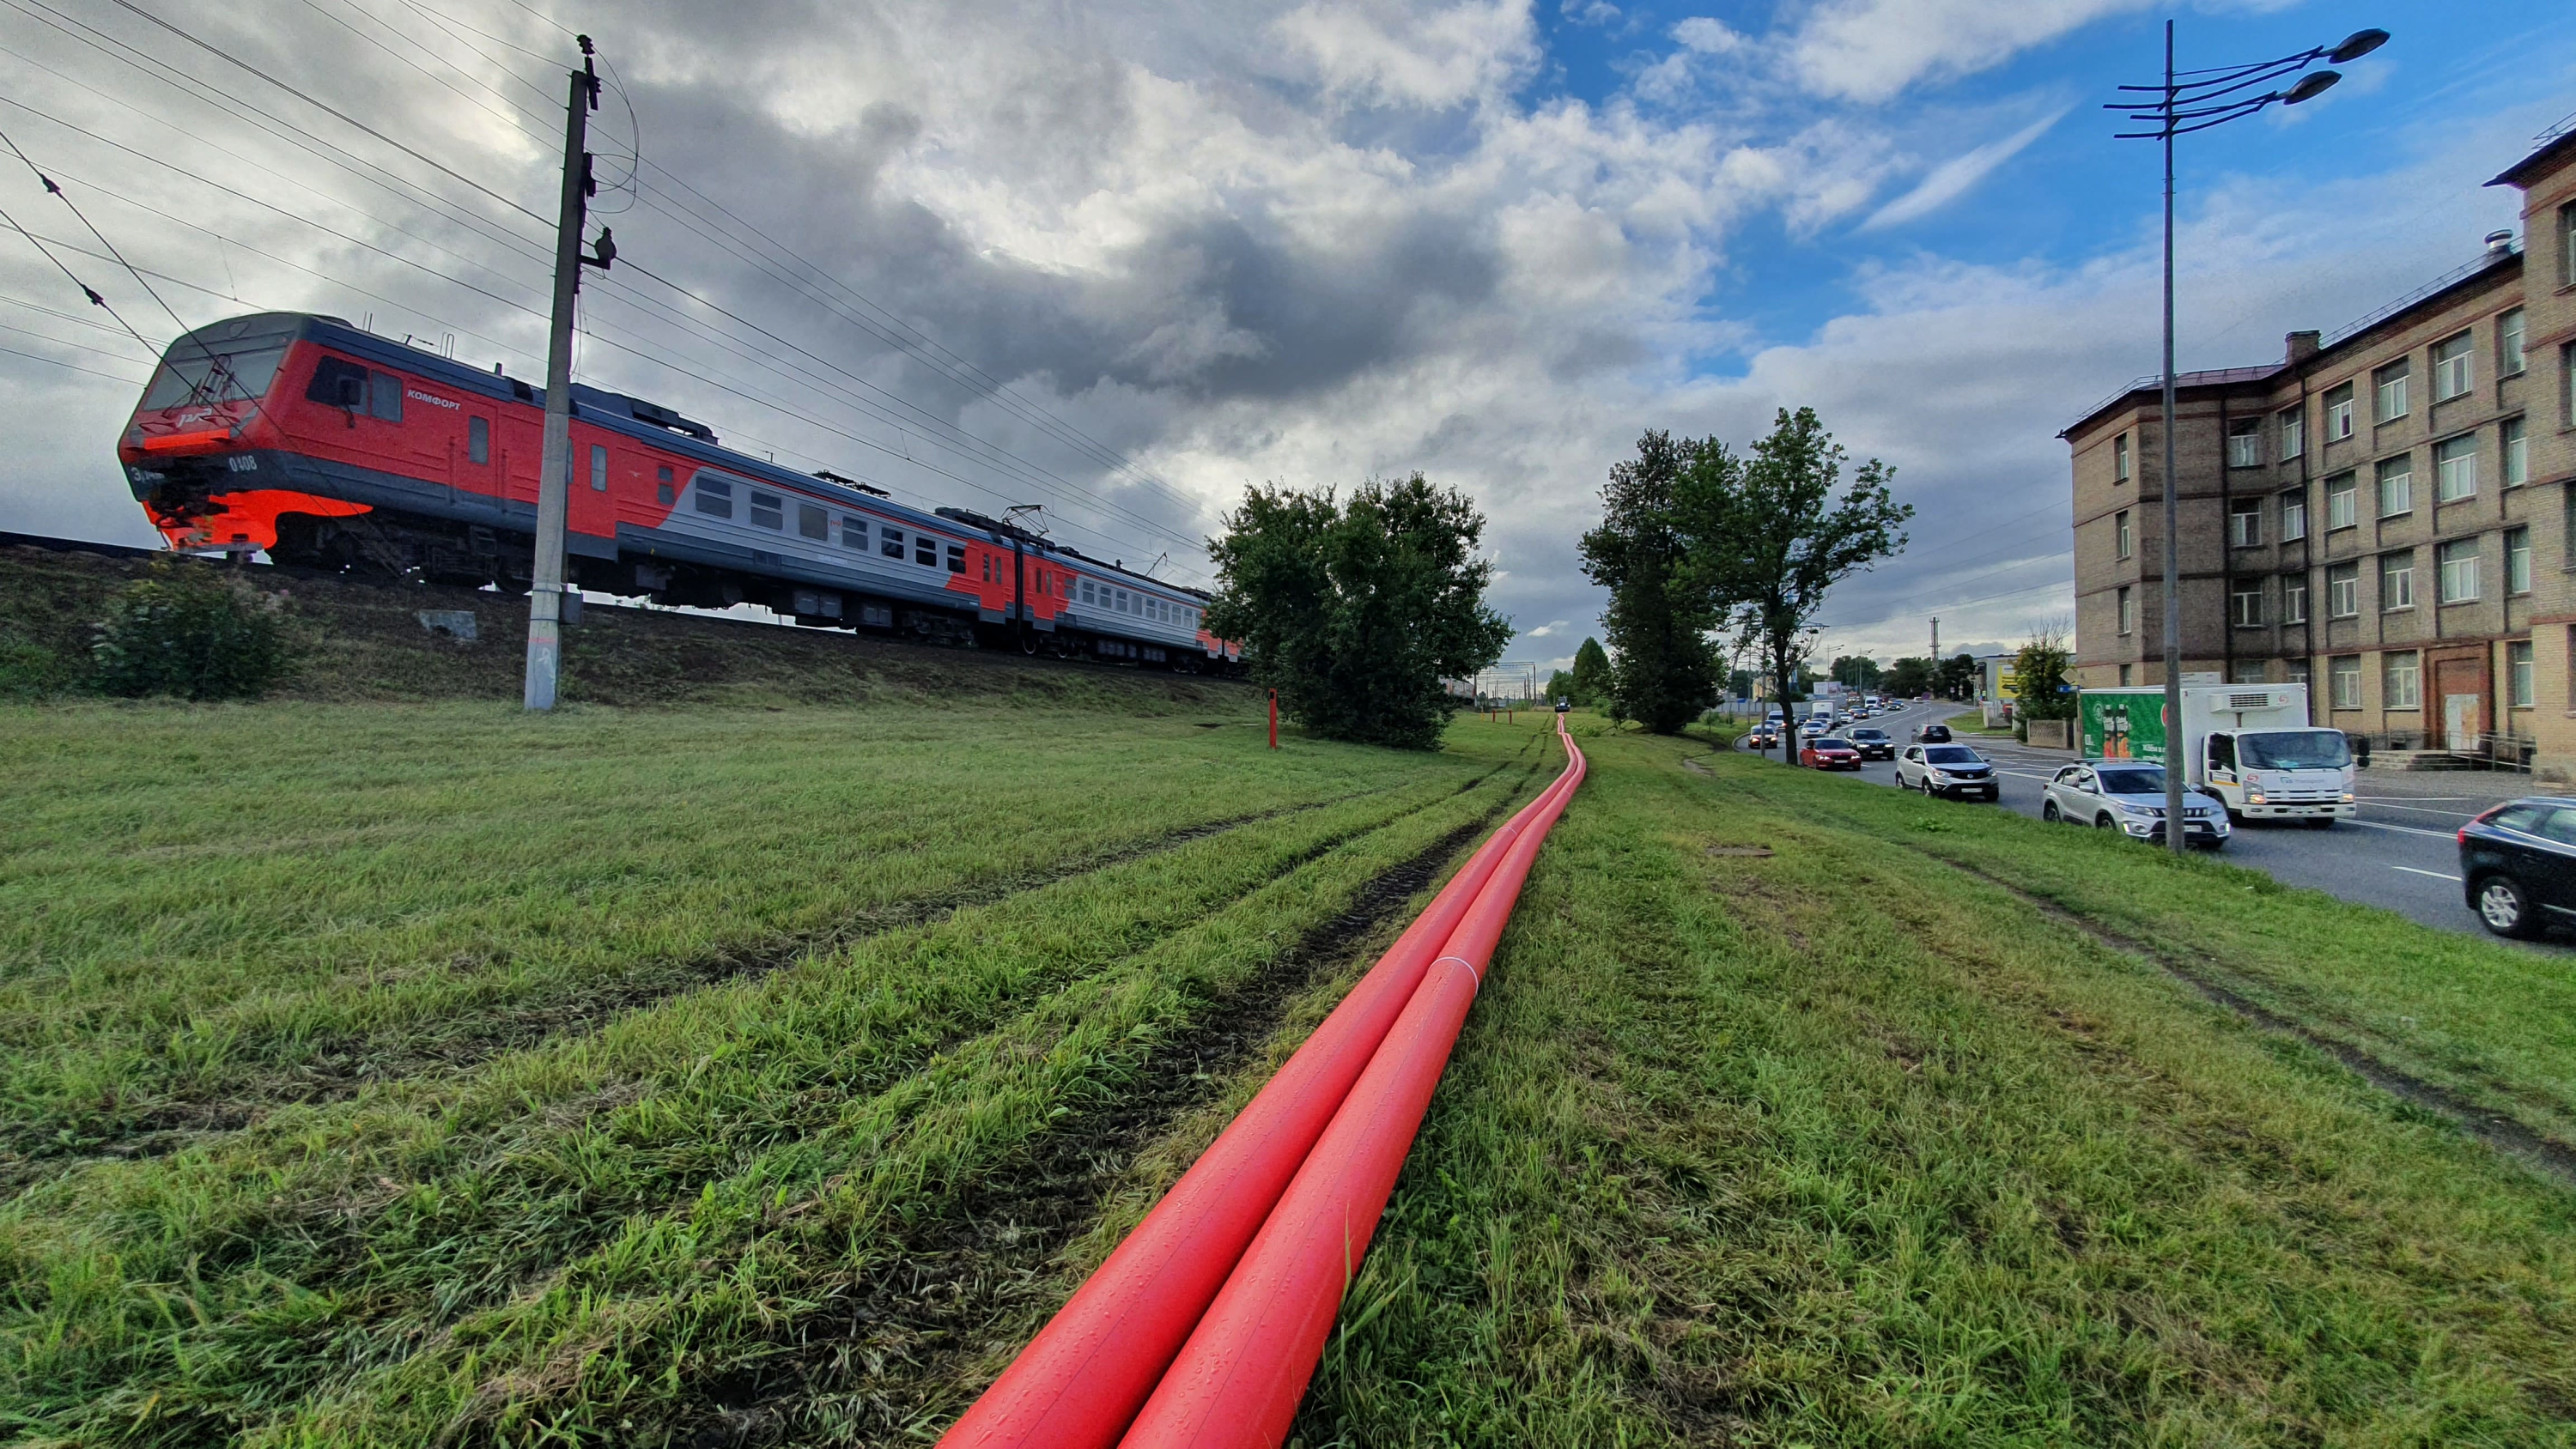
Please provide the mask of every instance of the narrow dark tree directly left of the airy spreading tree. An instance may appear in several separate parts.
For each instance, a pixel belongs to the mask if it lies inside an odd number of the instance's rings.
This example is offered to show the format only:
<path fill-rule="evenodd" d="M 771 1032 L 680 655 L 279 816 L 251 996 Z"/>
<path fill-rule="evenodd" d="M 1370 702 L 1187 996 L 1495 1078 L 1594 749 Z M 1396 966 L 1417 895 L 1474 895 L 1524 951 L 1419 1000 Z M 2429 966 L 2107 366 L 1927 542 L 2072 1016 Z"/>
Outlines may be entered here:
<path fill-rule="evenodd" d="M 1682 476 L 1710 443 L 1649 432 L 1636 458 L 1610 468 L 1602 522 L 1582 540 L 1584 574 L 1610 589 L 1602 625 L 1618 651 L 1610 661 L 1615 715 L 1654 734 L 1680 734 L 1716 697 L 1718 656 L 1710 649 L 1705 592 L 1674 515 Z"/>

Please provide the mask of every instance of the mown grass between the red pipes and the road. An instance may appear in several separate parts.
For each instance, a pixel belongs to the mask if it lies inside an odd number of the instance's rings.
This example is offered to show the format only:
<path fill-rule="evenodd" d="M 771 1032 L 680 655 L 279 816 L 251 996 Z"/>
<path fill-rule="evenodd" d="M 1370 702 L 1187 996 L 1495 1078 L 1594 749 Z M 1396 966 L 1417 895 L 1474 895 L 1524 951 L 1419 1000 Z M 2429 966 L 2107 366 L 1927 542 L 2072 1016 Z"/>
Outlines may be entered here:
<path fill-rule="evenodd" d="M 1587 749 L 1298 1444 L 2576 1444 L 2566 1181 L 1942 857 L 2409 1004 L 2375 1042 L 2427 1058 L 2512 1011 L 2566 1045 L 2563 975 L 1991 811 Z M 2555 1099 L 2548 1029 L 2481 1068 Z"/>

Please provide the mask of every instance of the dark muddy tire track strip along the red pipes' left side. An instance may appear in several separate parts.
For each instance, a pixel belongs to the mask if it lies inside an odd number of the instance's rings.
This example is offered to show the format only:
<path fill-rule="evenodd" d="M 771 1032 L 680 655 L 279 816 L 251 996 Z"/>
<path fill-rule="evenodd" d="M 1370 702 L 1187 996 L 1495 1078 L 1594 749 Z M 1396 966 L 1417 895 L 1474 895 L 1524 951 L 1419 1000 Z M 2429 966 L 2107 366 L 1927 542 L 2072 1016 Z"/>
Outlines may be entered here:
<path fill-rule="evenodd" d="M 963 1405 L 961 1369 L 984 1354 L 992 1331 L 1064 1292 L 1051 1271 L 1056 1256 L 1095 1223 L 1136 1153 L 1213 1099 L 1270 1040 L 1291 999 L 1347 965 L 1381 921 L 1528 793 L 1535 772 L 1484 816 L 1373 878 L 1342 914 L 1162 1042 L 1121 1084 L 1115 1107 L 1069 1117 L 987 1171 L 953 1212 L 902 1243 L 899 1264 L 876 1271 L 827 1320 L 804 1325 L 781 1359 L 706 1385 L 701 1413 L 675 1423 L 667 1441 L 719 1449 L 814 1439 L 817 1400 L 829 1400 L 835 1431 L 863 1441 L 927 1436 Z"/>

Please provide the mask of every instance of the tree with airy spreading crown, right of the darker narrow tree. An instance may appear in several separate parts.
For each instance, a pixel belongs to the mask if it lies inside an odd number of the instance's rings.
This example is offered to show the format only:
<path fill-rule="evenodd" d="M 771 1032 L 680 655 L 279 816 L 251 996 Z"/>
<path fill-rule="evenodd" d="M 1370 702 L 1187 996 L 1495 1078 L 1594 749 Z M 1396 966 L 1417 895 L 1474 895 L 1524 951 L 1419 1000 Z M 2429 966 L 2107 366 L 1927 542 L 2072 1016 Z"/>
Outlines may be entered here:
<path fill-rule="evenodd" d="M 1886 463 L 1870 458 L 1842 486 L 1844 461 L 1816 409 L 1780 409 L 1749 458 L 1705 445 L 1680 486 L 1692 582 L 1783 700 L 1795 697 L 1814 638 L 1806 620 L 1837 582 L 1901 551 L 1901 525 L 1914 517 L 1911 504 L 1888 494 Z M 1790 749 L 1783 739 L 1783 757 Z"/>

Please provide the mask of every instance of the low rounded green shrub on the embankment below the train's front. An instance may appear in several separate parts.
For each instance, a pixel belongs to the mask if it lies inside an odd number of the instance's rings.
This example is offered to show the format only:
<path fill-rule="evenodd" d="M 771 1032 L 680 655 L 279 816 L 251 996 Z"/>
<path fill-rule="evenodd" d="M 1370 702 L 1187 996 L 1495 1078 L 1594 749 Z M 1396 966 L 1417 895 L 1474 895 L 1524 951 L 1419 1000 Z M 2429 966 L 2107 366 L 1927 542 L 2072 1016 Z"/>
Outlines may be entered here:
<path fill-rule="evenodd" d="M 108 695 L 245 700 L 294 669 L 286 610 L 214 564 L 155 558 L 126 584 L 90 646 Z"/>

